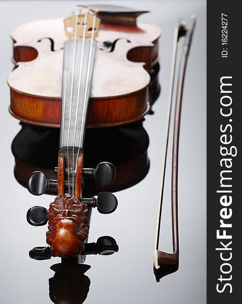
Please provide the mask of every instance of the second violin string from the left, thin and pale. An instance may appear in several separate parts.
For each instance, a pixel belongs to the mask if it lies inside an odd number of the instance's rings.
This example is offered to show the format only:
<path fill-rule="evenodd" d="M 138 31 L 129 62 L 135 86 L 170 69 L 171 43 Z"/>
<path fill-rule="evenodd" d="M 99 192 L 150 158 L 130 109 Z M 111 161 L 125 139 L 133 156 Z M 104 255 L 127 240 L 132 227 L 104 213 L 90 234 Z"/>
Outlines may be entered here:
<path fill-rule="evenodd" d="M 79 79 L 78 79 L 78 90 L 77 90 L 77 103 L 76 103 L 76 111 L 75 111 L 75 127 L 74 127 L 74 136 L 73 136 L 73 149 L 72 149 L 72 164 L 74 167 L 74 146 L 75 146 L 75 136 L 76 136 L 76 125 L 77 125 L 77 113 L 78 113 L 78 107 L 79 107 L 79 95 L 80 95 L 80 80 L 82 78 L 82 69 L 83 69 L 83 55 L 84 55 L 84 48 L 85 48 L 85 34 L 86 34 L 86 28 L 87 28 L 87 16 L 88 14 L 85 13 L 84 17 L 84 28 L 83 28 L 83 40 L 82 40 L 82 52 L 80 55 L 80 66 L 79 66 Z M 78 154 L 76 156 L 78 158 Z M 76 162 L 77 163 L 77 162 Z M 74 168 L 73 168 L 74 169 Z M 72 170 L 72 193 L 74 193 L 74 171 Z"/>

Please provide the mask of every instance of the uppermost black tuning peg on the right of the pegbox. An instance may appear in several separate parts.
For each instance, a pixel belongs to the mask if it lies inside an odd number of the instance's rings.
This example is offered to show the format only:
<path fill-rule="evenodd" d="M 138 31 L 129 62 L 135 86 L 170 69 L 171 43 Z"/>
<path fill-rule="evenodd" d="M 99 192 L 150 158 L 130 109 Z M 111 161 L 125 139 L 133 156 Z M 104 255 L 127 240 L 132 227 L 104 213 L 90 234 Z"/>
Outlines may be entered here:
<path fill-rule="evenodd" d="M 93 177 L 95 181 L 101 186 L 110 185 L 116 176 L 115 167 L 107 162 L 99 163 L 95 169 L 83 169 L 83 173 Z"/>

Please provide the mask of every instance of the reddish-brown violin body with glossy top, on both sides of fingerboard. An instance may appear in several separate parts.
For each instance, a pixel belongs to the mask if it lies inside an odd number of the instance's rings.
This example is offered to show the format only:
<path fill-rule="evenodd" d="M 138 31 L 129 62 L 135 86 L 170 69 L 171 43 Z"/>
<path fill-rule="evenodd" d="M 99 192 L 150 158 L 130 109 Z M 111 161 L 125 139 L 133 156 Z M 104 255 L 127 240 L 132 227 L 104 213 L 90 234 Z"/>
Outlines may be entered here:
<path fill-rule="evenodd" d="M 9 110 L 22 122 L 60 127 L 63 27 L 61 18 L 38 20 L 11 34 L 16 67 L 8 79 Z M 130 123 L 149 111 L 148 85 L 158 60 L 160 34 L 159 27 L 142 22 L 128 26 L 101 23 L 88 128 Z M 111 46 L 106 47 L 107 42 Z"/>

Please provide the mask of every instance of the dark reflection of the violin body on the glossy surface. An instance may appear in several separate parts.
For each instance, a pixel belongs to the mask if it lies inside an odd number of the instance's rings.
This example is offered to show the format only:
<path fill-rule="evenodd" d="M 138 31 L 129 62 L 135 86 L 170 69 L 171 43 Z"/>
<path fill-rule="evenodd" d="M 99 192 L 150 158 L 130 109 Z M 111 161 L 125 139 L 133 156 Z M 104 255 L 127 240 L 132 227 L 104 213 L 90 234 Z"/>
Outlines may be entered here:
<path fill-rule="evenodd" d="M 17 181 L 26 186 L 27 177 L 33 171 L 44 172 L 48 180 L 55 179 L 53 168 L 57 162 L 59 129 L 24 123 L 21 125 L 22 129 L 12 143 Z M 111 128 L 88 129 L 85 138 L 84 150 L 88 158 L 85 159 L 84 166 L 95 168 L 105 158 L 115 166 L 116 177 L 112 184 L 101 186 L 87 176 L 83 195 L 128 188 L 148 173 L 149 138 L 142 121 Z M 95 147 L 99 145 L 103 145 L 103 149 L 96 154 Z M 48 187 L 46 193 L 57 195 L 57 188 Z"/>

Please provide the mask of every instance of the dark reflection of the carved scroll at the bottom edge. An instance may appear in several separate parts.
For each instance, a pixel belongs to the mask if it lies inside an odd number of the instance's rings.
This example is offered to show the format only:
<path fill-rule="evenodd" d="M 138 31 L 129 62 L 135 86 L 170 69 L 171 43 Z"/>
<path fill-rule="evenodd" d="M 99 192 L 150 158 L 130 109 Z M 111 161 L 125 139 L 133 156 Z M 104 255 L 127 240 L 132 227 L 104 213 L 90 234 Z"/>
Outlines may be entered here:
<path fill-rule="evenodd" d="M 76 263 L 59 263 L 51 266 L 55 272 L 49 279 L 50 299 L 55 304 L 83 303 L 89 292 L 91 281 L 84 274 L 90 265 Z"/>

